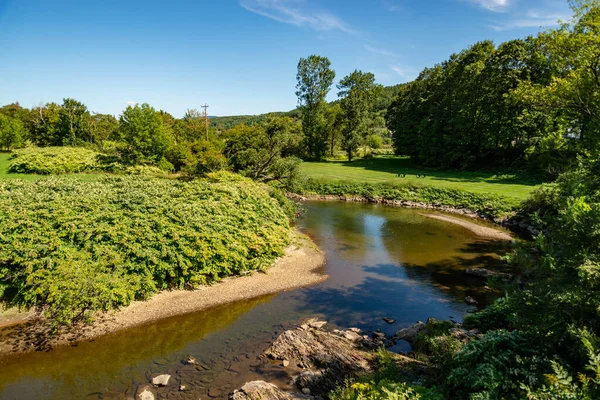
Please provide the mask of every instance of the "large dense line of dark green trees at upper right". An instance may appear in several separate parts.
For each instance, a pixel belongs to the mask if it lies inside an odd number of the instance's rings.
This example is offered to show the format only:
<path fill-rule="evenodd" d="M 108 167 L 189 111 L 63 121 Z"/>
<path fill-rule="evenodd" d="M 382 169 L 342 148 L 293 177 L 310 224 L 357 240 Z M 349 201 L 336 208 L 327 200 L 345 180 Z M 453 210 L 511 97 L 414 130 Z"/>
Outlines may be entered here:
<path fill-rule="evenodd" d="M 594 2 L 573 21 L 426 68 L 387 111 L 397 154 L 445 168 L 526 166 L 549 177 L 597 152 L 600 51 Z"/>

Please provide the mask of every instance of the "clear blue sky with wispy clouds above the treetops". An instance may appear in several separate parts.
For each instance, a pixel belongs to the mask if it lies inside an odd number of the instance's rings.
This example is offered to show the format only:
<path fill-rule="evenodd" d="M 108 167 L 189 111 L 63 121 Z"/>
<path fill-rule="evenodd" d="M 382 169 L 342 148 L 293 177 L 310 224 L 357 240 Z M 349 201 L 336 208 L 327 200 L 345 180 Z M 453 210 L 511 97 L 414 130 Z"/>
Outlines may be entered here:
<path fill-rule="evenodd" d="M 361 69 L 392 85 L 569 15 L 567 0 L 0 0 L 0 104 L 290 110 L 300 57 L 329 57 L 336 79 Z"/>

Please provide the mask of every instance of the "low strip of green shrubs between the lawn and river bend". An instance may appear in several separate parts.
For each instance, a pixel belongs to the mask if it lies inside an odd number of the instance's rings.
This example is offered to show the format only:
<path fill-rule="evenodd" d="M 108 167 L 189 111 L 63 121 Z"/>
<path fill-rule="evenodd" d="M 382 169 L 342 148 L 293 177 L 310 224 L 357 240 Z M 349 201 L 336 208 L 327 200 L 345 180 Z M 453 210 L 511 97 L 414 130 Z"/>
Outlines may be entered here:
<path fill-rule="evenodd" d="M 307 179 L 293 188 L 298 194 L 356 196 L 385 200 L 409 201 L 467 209 L 493 217 L 503 217 L 519 208 L 520 202 L 510 197 L 483 195 L 462 190 L 427 186 L 405 186 L 389 183 L 356 183 Z"/>

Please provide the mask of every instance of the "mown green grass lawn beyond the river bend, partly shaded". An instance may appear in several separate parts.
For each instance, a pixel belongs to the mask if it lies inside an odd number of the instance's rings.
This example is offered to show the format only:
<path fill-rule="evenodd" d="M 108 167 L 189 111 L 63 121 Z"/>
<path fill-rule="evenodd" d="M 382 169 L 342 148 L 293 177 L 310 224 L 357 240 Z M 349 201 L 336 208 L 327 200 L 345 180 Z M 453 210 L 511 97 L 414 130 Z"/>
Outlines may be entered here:
<path fill-rule="evenodd" d="M 435 186 L 474 193 L 498 194 L 526 199 L 542 182 L 522 173 L 497 175 L 486 172 L 438 170 L 415 166 L 409 158 L 379 156 L 352 162 L 305 162 L 301 170 L 308 177 L 347 182 L 393 183 L 400 185 Z M 406 174 L 405 178 L 398 174 Z M 417 178 L 425 174 L 425 178 Z"/>

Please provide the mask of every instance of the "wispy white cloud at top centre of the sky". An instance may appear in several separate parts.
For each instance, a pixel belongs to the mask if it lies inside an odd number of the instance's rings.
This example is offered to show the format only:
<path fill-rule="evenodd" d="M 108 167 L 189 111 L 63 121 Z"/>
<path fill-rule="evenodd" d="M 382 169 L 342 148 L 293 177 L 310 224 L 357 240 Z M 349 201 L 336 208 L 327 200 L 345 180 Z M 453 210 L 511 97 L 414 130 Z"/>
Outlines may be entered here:
<path fill-rule="evenodd" d="M 316 31 L 353 30 L 340 18 L 326 11 L 309 11 L 302 0 L 240 0 L 246 10 L 272 20 Z"/>

